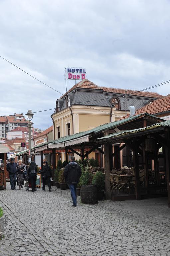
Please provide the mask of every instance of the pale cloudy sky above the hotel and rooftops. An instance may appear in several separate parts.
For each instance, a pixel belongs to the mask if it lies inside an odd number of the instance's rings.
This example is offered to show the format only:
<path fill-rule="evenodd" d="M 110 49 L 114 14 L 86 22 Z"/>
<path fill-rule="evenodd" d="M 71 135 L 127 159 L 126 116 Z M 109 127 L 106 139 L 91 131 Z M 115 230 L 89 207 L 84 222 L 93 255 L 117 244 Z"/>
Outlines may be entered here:
<path fill-rule="evenodd" d="M 0 0 L 0 10 L 0 55 L 61 93 L 67 66 L 85 67 L 99 86 L 170 80 L 169 0 Z M 0 115 L 55 108 L 61 97 L 1 58 L 0 89 Z M 34 126 L 51 126 L 52 113 L 35 113 Z"/>

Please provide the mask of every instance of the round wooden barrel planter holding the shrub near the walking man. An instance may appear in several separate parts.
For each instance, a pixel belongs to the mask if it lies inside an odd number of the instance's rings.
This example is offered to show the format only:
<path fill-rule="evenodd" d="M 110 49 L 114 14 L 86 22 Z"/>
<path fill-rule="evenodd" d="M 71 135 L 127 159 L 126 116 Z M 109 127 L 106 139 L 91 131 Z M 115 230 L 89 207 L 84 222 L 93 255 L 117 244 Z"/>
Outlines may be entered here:
<path fill-rule="evenodd" d="M 95 185 L 82 185 L 80 197 L 83 204 L 97 203 L 97 188 Z"/>

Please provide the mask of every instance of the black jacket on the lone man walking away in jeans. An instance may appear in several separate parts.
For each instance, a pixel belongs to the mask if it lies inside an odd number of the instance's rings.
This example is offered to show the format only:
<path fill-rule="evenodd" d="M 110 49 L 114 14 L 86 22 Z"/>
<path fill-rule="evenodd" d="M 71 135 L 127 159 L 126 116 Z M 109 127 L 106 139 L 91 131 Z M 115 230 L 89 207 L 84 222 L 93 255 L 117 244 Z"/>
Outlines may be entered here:
<path fill-rule="evenodd" d="M 68 184 L 77 184 L 80 181 L 82 170 L 76 162 L 70 162 L 64 169 L 64 177 Z"/>

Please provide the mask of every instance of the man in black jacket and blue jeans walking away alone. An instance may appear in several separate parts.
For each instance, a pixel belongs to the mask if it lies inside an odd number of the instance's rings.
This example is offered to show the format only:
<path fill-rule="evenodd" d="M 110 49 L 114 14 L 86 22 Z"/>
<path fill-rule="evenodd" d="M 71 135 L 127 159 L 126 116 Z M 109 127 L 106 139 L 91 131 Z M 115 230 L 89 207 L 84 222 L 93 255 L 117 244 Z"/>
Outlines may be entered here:
<path fill-rule="evenodd" d="M 80 181 L 82 170 L 80 165 L 75 162 L 75 157 L 71 156 L 71 162 L 64 169 L 64 177 L 71 191 L 73 206 L 77 206 L 77 184 Z"/>

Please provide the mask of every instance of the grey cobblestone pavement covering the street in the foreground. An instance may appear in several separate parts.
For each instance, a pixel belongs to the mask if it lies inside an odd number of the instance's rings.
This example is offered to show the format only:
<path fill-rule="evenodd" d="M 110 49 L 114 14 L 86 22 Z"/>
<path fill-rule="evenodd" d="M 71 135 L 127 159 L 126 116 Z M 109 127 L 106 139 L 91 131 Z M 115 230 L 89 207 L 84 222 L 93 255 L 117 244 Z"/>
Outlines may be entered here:
<path fill-rule="evenodd" d="M 167 198 L 72 207 L 70 191 L 0 191 L 0 255 L 170 255 Z M 78 197 L 80 201 L 80 197 Z"/>

